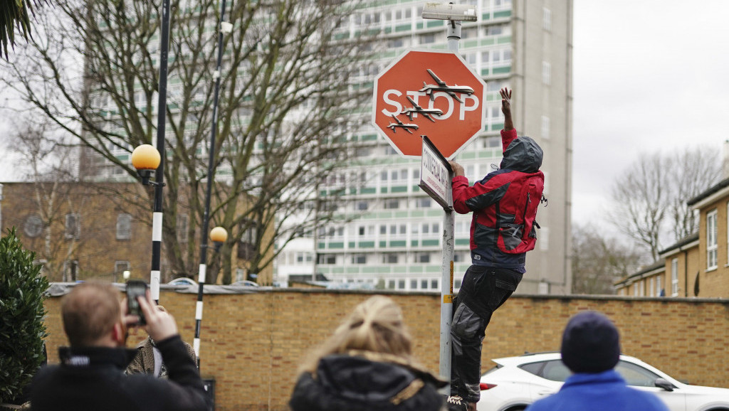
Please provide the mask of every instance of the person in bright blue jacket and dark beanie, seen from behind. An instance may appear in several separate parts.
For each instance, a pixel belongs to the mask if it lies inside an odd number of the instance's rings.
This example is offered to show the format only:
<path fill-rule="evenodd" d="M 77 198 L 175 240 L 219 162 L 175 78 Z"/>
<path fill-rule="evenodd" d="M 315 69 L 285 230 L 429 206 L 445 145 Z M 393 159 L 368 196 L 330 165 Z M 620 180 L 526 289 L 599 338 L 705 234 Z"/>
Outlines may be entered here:
<path fill-rule="evenodd" d="M 527 411 L 668 411 L 655 394 L 628 387 L 615 371 L 620 336 L 606 316 L 584 311 L 572 317 L 562 334 L 562 362 L 573 375 L 555 394 Z"/>

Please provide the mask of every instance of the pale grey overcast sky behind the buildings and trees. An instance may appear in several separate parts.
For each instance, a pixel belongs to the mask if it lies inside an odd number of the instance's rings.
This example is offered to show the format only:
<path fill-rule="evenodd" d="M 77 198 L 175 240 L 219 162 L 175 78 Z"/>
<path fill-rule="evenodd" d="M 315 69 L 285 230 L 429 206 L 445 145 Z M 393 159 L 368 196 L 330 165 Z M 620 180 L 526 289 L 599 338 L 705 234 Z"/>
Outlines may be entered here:
<path fill-rule="evenodd" d="M 602 224 L 641 152 L 729 138 L 729 1 L 574 0 L 573 42 L 572 217 Z M 17 179 L 0 153 L 0 181 Z"/>

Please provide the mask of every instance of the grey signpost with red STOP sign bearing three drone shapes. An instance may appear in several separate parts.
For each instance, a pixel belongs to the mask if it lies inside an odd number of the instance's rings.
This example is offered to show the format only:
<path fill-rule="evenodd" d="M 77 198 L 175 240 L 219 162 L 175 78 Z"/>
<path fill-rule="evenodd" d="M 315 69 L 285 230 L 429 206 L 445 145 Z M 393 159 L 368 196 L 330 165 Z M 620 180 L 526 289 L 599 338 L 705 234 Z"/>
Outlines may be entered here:
<path fill-rule="evenodd" d="M 404 157 L 421 157 L 421 187 L 443 210 L 440 375 L 451 377 L 454 216 L 452 159 L 483 130 L 486 84 L 458 53 L 467 4 L 426 3 L 423 18 L 448 20 L 448 50 L 409 50 L 375 78 L 373 125 Z M 422 136 L 422 138 L 418 137 Z M 450 387 L 444 394 L 450 394 Z"/>

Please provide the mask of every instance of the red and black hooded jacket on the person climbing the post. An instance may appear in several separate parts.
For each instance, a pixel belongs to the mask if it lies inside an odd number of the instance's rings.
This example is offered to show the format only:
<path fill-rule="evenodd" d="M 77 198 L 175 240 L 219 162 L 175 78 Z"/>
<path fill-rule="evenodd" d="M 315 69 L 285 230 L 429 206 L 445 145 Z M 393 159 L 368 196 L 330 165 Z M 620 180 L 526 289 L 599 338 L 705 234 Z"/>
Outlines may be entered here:
<path fill-rule="evenodd" d="M 523 273 L 526 251 L 537 241 L 535 218 L 544 190 L 539 167 L 544 154 L 533 139 L 517 137 L 516 130 L 501 134 L 501 168 L 472 187 L 465 176 L 453 177 L 453 208 L 459 214 L 473 213 L 473 264 Z"/>

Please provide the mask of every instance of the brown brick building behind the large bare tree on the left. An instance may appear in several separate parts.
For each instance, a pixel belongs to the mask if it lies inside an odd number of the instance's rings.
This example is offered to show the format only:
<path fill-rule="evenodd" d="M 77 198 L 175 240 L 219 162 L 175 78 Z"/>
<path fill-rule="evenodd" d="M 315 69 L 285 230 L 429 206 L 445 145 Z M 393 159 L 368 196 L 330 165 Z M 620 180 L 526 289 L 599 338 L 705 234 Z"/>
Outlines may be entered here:
<path fill-rule="evenodd" d="M 23 246 L 36 253 L 43 273 L 50 281 L 78 281 L 102 278 L 123 282 L 149 279 L 152 263 L 152 193 L 138 182 L 36 182 L 1 184 L 0 228 L 15 227 Z M 161 281 L 187 276 L 197 279 L 199 237 L 190 230 L 190 216 L 165 214 L 176 222 L 176 238 L 163 238 Z M 198 229 L 199 230 L 199 229 Z M 187 266 L 172 272 L 165 261 L 165 242 L 182 243 L 190 256 Z M 246 271 L 246 260 L 238 251 L 249 244 L 233 245 L 233 281 L 236 271 Z M 240 248 L 240 250 L 239 250 Z M 208 260 L 214 258 L 208 252 Z M 208 261 L 208 264 L 210 262 Z M 211 265 L 208 265 L 210 270 Z M 271 282 L 273 268 L 259 273 L 258 282 Z M 208 271 L 208 281 L 209 281 Z M 219 281 L 222 276 L 219 276 Z"/>

